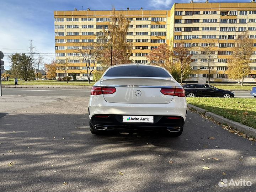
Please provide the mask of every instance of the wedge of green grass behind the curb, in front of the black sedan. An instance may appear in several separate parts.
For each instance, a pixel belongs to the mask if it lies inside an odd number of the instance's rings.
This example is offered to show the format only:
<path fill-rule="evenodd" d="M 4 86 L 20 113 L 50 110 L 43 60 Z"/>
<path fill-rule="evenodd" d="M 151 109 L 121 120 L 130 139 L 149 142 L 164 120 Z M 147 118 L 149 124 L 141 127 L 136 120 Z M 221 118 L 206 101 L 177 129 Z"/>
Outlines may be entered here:
<path fill-rule="evenodd" d="M 256 99 L 194 97 L 187 103 L 256 129 Z"/>

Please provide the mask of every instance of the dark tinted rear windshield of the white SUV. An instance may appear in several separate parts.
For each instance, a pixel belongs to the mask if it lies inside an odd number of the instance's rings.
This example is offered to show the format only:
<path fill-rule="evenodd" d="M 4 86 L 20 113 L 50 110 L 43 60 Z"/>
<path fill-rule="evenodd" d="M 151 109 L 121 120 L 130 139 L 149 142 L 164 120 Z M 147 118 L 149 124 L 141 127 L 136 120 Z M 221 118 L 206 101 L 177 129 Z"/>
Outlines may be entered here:
<path fill-rule="evenodd" d="M 162 68 L 154 66 L 128 65 L 113 67 L 107 71 L 106 77 L 160 77 L 170 78 L 171 76 Z"/>

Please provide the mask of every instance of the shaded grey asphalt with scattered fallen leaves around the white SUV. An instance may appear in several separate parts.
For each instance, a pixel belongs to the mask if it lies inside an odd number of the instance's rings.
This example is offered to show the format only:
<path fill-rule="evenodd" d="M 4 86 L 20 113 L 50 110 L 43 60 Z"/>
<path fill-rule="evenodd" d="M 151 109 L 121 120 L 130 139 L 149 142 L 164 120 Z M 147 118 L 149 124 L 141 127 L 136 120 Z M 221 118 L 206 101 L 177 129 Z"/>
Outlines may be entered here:
<path fill-rule="evenodd" d="M 255 142 L 192 112 L 178 138 L 93 135 L 88 99 L 0 98 L 1 192 L 256 191 Z M 224 178 L 252 185 L 219 187 Z"/>

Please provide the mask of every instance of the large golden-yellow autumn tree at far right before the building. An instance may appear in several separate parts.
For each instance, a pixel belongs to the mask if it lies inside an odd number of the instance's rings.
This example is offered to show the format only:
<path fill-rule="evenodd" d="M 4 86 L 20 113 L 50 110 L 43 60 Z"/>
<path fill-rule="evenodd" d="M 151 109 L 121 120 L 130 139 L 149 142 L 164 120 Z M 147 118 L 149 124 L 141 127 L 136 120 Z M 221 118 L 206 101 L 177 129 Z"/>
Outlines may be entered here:
<path fill-rule="evenodd" d="M 235 41 L 233 57 L 228 59 L 228 75 L 231 79 L 242 79 L 241 86 L 244 84 L 245 76 L 249 75 L 252 39 L 248 37 L 248 32 L 244 32 Z"/>

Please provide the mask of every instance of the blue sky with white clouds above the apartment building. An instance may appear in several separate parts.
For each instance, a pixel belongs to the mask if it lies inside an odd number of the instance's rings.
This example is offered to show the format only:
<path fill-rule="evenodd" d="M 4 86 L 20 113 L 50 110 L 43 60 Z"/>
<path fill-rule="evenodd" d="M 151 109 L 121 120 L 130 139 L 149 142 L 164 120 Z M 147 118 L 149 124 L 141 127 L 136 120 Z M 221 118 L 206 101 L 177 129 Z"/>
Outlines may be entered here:
<path fill-rule="evenodd" d="M 204 2 L 205 0 L 194 0 Z M 209 0 L 220 2 L 221 0 Z M 231 2 L 231 0 L 222 0 Z M 250 0 L 235 0 L 250 2 Z M 116 9 L 170 9 L 174 2 L 190 0 L 0 0 L 0 50 L 4 53 L 5 69 L 10 68 L 9 55 L 29 53 L 33 39 L 34 58 L 44 58 L 49 63 L 55 59 L 54 10 L 111 10 Z M 232 1 L 234 2 L 234 1 Z"/>

